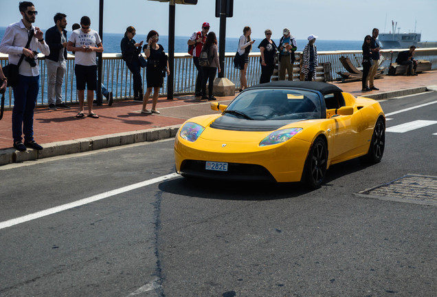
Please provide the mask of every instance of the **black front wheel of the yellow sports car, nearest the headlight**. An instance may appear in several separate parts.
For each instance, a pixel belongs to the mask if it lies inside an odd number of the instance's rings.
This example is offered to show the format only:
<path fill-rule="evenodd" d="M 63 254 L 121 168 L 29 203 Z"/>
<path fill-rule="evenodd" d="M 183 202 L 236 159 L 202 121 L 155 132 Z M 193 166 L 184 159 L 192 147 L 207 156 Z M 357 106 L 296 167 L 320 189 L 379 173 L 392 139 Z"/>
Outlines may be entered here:
<path fill-rule="evenodd" d="M 317 137 L 310 148 L 305 162 L 304 184 L 310 188 L 320 188 L 326 175 L 328 149 L 322 137 Z"/>

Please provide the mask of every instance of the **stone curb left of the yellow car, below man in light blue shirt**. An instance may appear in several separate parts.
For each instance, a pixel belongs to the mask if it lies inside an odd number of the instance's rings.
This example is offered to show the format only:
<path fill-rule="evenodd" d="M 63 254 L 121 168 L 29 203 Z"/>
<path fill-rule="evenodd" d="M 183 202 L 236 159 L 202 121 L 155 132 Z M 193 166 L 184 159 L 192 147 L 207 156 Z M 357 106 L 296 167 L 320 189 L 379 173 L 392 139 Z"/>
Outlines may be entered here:
<path fill-rule="evenodd" d="M 95 137 L 67 140 L 63 142 L 50 142 L 42 144 L 44 149 L 36 151 L 28 148 L 27 151 L 16 151 L 15 148 L 0 150 L 0 166 L 11 163 L 96 151 L 102 148 L 122 146 L 139 142 L 153 142 L 175 137 L 181 125 L 166 126 L 164 128 L 138 130 L 125 133 L 115 133 Z"/>

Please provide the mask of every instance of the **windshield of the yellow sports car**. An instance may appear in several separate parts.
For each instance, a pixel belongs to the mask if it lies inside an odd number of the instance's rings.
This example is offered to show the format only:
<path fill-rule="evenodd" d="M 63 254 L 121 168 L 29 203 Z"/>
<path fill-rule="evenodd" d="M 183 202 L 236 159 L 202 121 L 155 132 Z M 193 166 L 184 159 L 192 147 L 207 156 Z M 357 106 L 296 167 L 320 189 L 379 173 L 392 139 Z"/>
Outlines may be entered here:
<path fill-rule="evenodd" d="M 320 119 L 320 97 L 298 89 L 251 89 L 236 97 L 224 115 L 249 120 Z"/>

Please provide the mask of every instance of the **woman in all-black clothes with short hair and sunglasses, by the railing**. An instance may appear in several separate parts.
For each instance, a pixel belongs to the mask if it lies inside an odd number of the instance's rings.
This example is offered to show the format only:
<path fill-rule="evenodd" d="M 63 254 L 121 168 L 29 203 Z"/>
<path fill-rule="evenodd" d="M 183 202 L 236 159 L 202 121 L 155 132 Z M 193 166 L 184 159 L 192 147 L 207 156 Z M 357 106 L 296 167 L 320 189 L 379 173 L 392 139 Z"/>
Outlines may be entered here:
<path fill-rule="evenodd" d="M 278 47 L 275 42 L 271 40 L 271 30 L 265 30 L 265 39 L 258 45 L 261 52 L 261 77 L 260 83 L 270 83 L 271 75 L 275 69 L 275 57 L 278 52 Z"/>

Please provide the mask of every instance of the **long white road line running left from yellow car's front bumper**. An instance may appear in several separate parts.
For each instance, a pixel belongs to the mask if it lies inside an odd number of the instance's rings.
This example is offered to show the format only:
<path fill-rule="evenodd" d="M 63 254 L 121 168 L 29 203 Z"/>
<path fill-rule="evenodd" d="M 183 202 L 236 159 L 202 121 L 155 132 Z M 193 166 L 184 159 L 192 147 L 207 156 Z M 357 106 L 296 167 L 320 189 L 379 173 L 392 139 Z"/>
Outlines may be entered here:
<path fill-rule="evenodd" d="M 137 184 L 132 184 L 131 186 L 125 186 L 122 188 L 117 188 L 115 190 L 110 190 L 109 192 L 103 192 L 98 195 L 94 195 L 88 198 L 80 199 L 78 201 L 70 202 L 61 206 L 55 206 L 54 208 L 49 208 L 47 210 L 41 210 L 39 212 L 34 212 L 33 214 L 27 214 L 23 217 L 18 217 L 16 219 L 10 219 L 8 221 L 0 222 L 0 230 L 8 227 L 12 227 L 13 225 L 18 225 L 20 223 L 25 223 L 27 221 L 32 221 L 34 219 L 39 219 L 41 217 L 47 217 L 50 214 L 55 214 L 56 212 L 61 212 L 63 210 L 69 210 L 71 208 L 75 208 L 78 206 L 82 206 L 88 203 L 92 203 L 98 200 L 102 200 L 114 195 L 122 194 L 123 192 L 128 192 L 131 190 L 135 190 L 137 188 L 142 188 L 144 186 L 150 186 L 151 184 L 156 184 L 161 181 L 165 181 L 167 179 L 173 179 L 175 177 L 179 177 L 177 173 L 171 173 L 169 175 L 163 175 L 161 177 L 155 177 L 154 179 L 148 179 L 146 181 L 139 182 Z"/>

